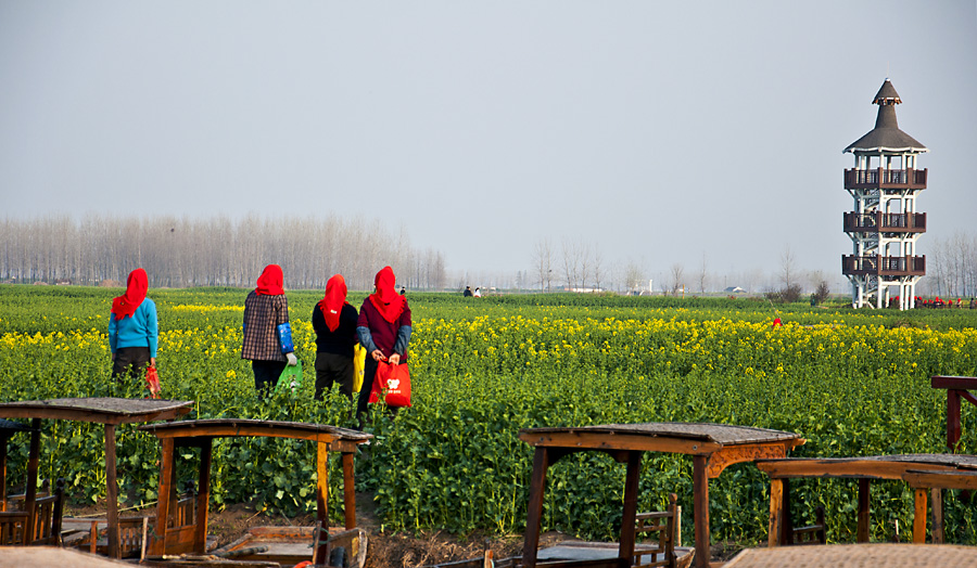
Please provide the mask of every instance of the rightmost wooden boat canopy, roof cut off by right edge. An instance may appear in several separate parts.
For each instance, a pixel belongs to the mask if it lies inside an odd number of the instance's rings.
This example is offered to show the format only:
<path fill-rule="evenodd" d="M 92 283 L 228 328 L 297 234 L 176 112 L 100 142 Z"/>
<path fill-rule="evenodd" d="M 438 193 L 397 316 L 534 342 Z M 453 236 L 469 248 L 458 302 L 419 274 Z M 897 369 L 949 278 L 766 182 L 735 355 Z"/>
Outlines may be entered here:
<path fill-rule="evenodd" d="M 757 467 L 770 476 L 770 533 L 767 544 L 777 546 L 790 542 L 790 486 L 792 478 L 842 478 L 859 480 L 859 525 L 855 541 L 868 542 L 870 483 L 873 479 L 908 480 L 910 472 L 953 473 L 977 468 L 977 456 L 960 454 L 893 454 L 862 457 L 791 457 L 758 461 Z M 916 511 L 913 520 L 913 542 L 926 540 L 926 493 L 914 486 Z M 939 486 L 929 486 L 939 487 Z M 940 526 L 939 490 L 934 490 L 934 525 Z M 922 509 L 921 509 L 922 506 Z M 937 518 L 939 517 L 939 518 Z"/>

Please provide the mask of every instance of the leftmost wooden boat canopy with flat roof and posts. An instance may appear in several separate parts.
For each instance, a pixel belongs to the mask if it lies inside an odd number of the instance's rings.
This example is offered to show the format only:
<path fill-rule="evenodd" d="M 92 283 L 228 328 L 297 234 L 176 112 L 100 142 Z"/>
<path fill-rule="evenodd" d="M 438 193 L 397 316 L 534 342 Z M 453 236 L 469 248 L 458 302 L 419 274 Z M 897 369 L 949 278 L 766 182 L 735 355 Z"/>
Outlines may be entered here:
<path fill-rule="evenodd" d="M 25 400 L 0 403 L 0 416 L 30 418 L 30 453 L 27 459 L 27 512 L 33 515 L 37 499 L 37 469 L 40 460 L 40 421 L 91 422 L 105 426 L 105 495 L 109 517 L 109 555 L 119 557 L 118 485 L 115 476 L 115 427 L 119 424 L 169 421 L 190 412 L 193 401 L 119 398 Z M 28 526 L 34 527 L 33 516 Z"/>

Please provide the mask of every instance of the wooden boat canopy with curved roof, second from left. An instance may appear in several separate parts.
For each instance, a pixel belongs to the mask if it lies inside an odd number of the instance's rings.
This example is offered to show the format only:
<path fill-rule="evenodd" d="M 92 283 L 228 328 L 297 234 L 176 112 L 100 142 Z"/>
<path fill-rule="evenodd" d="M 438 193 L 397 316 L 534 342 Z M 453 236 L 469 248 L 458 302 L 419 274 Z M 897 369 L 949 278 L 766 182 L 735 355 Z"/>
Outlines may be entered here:
<path fill-rule="evenodd" d="M 309 440 L 316 442 L 317 519 L 323 529 L 329 527 L 328 495 L 329 452 L 342 454 L 343 462 L 343 506 L 346 529 L 356 526 L 356 494 L 354 488 L 353 456 L 357 447 L 368 442 L 373 436 L 361 431 L 301 422 L 274 422 L 243 418 L 215 418 L 181 421 L 166 424 L 148 424 L 139 429 L 154 434 L 163 447 L 160 465 L 160 502 L 156 505 L 156 525 L 150 554 L 169 555 L 204 554 L 207 538 L 207 509 L 211 485 L 211 454 L 214 438 L 227 437 L 270 437 Z M 167 520 L 174 516 L 177 502 L 176 451 L 177 448 L 200 448 L 200 473 L 196 494 L 196 518 L 186 525 Z M 169 499 L 167 499 L 167 495 Z M 318 558 L 328 558 L 328 541 L 320 539 Z"/>

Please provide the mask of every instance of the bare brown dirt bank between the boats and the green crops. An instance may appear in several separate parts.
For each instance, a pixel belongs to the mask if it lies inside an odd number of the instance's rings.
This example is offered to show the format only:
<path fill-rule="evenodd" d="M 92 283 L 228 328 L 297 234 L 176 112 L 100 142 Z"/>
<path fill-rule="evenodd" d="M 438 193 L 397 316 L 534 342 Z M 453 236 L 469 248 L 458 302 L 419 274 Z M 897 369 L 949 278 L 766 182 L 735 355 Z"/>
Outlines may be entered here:
<path fill-rule="evenodd" d="M 367 561 L 365 568 L 414 568 L 452 560 L 481 557 L 486 548 L 491 548 L 495 558 L 506 558 L 522 554 L 522 534 L 511 535 L 469 535 L 459 538 L 446 532 L 428 534 L 407 534 L 381 532 L 380 522 L 373 513 L 373 501 L 368 494 L 356 495 L 356 519 L 360 528 L 369 534 Z M 66 516 L 103 516 L 104 504 L 84 508 L 68 507 Z M 154 507 L 139 512 L 122 512 L 120 516 L 149 516 Z M 315 524 L 314 515 L 288 518 L 283 515 L 266 515 L 255 513 L 248 505 L 237 504 L 224 511 L 210 513 L 208 532 L 216 537 L 218 545 L 231 543 L 241 538 L 252 527 L 261 526 L 295 526 L 310 527 Z M 540 545 L 549 546 L 559 541 L 571 540 L 559 532 L 547 532 L 540 535 Z M 741 546 L 731 543 L 718 543 L 712 546 L 713 560 L 727 560 L 739 552 Z"/>

